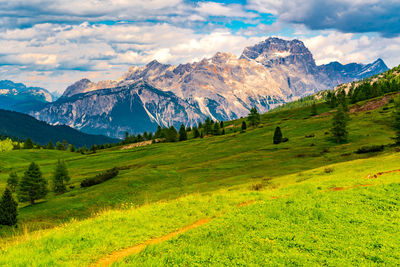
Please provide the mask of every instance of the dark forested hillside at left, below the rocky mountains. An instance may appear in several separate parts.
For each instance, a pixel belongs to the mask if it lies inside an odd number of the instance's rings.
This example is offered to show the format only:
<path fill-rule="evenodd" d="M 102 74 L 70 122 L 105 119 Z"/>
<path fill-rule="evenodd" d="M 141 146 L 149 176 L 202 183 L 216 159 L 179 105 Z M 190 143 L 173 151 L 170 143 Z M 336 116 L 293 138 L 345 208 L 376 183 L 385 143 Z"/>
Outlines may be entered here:
<path fill-rule="evenodd" d="M 46 145 L 49 141 L 55 144 L 57 141 L 67 140 L 77 147 L 119 141 L 106 136 L 85 134 L 64 125 L 52 126 L 31 116 L 2 109 L 0 109 L 0 135 L 21 140 L 31 138 L 41 145 Z"/>

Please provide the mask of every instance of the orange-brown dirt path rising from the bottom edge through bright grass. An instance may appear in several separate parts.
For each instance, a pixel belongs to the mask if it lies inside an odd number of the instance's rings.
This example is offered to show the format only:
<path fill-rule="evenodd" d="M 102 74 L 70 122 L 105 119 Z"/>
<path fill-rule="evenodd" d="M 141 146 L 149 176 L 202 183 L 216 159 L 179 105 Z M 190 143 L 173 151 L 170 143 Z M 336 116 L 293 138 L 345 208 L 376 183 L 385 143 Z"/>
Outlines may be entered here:
<path fill-rule="evenodd" d="M 239 203 L 237 205 L 237 207 L 248 206 L 248 205 L 250 205 L 252 203 L 254 203 L 254 200 L 249 200 L 247 202 Z M 138 245 L 133 246 L 133 247 L 129 247 L 129 248 L 126 248 L 126 249 L 123 249 L 123 250 L 115 251 L 114 253 L 112 253 L 110 255 L 107 255 L 104 258 L 101 258 L 95 264 L 93 264 L 91 266 L 101 266 L 101 267 L 110 266 L 114 262 L 120 261 L 125 257 L 128 257 L 128 256 L 130 256 L 132 254 L 135 254 L 135 253 L 139 253 L 140 251 L 145 249 L 146 246 L 148 246 L 148 245 L 154 245 L 154 244 L 158 244 L 158 243 L 167 241 L 167 240 L 169 240 L 169 239 L 171 239 L 171 238 L 173 238 L 173 237 L 175 237 L 177 235 L 183 234 L 183 233 L 185 233 L 185 232 L 187 232 L 187 231 L 189 231 L 191 229 L 200 227 L 203 224 L 206 224 L 206 223 L 210 222 L 211 220 L 212 220 L 211 218 L 201 219 L 201 220 L 198 220 L 198 221 L 194 222 L 193 224 L 187 225 L 187 226 L 185 226 L 185 227 L 183 227 L 183 228 L 181 228 L 181 229 L 179 229 L 179 230 L 177 230 L 175 232 L 169 233 L 167 235 L 147 240 L 146 242 L 138 244 Z"/>

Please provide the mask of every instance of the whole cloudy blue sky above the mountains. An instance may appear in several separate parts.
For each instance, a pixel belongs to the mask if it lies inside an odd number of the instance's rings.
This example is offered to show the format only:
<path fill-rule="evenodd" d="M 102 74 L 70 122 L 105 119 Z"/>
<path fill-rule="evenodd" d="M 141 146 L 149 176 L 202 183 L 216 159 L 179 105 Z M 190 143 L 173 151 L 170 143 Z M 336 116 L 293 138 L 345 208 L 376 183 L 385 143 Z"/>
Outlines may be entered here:
<path fill-rule="evenodd" d="M 0 0 L 0 80 L 62 93 L 156 59 L 299 39 L 317 64 L 400 64 L 400 0 Z"/>

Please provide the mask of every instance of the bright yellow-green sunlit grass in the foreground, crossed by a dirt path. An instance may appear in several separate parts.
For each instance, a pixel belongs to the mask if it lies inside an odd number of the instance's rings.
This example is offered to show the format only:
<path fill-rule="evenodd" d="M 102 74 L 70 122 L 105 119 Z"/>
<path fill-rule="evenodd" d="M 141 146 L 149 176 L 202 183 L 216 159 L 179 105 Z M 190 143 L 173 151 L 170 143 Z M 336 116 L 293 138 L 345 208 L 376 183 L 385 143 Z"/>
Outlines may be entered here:
<path fill-rule="evenodd" d="M 262 191 L 248 184 L 106 211 L 5 244 L 0 265 L 84 266 L 202 218 L 214 219 L 116 265 L 396 265 L 398 173 L 368 177 L 399 166 L 397 154 L 381 155 L 283 176 Z M 248 200 L 256 202 L 237 207 Z"/>

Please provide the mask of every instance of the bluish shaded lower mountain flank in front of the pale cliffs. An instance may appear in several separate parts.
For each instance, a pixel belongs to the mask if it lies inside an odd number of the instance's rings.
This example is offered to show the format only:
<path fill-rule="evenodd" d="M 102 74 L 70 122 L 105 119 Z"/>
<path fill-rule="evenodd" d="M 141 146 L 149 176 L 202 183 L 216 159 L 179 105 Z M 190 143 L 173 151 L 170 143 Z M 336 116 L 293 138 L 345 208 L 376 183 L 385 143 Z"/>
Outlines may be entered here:
<path fill-rule="evenodd" d="M 155 131 L 157 125 L 179 127 L 181 122 L 194 124 L 205 119 L 199 107 L 144 82 L 61 97 L 32 115 L 115 137 L 126 131 Z"/>

